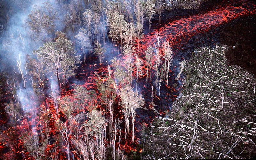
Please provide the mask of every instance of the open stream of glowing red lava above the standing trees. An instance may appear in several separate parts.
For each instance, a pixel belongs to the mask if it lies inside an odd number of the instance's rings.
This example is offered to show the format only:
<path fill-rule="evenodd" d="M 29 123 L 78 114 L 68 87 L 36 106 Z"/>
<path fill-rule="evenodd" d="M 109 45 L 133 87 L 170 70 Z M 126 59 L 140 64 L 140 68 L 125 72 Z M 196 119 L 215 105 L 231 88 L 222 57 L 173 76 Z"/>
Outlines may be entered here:
<path fill-rule="evenodd" d="M 175 45 L 179 43 L 179 37 L 185 35 L 191 37 L 197 33 L 205 32 L 211 28 L 249 14 L 255 14 L 255 4 L 250 1 L 244 1 L 241 6 L 235 7 L 229 4 L 225 8 L 190 16 L 189 18 L 174 20 L 159 29 L 155 29 L 151 32 L 151 35 L 147 35 L 144 39 L 141 39 L 141 42 L 144 42 L 144 44 L 140 44 L 140 48 L 145 50 L 149 45 L 153 46 L 153 44 L 156 43 L 156 32 L 159 32 L 162 42 L 169 41 L 171 45 Z"/>

